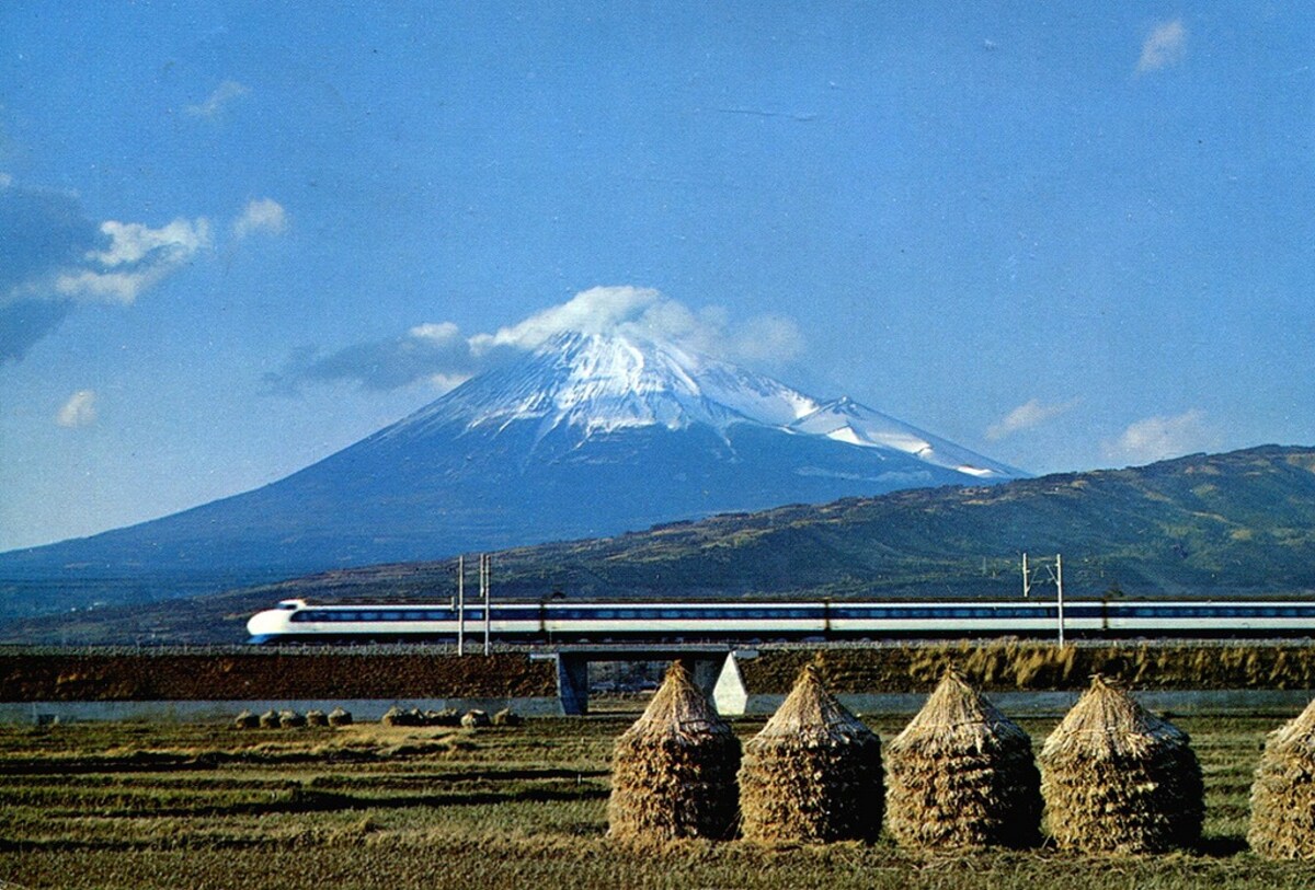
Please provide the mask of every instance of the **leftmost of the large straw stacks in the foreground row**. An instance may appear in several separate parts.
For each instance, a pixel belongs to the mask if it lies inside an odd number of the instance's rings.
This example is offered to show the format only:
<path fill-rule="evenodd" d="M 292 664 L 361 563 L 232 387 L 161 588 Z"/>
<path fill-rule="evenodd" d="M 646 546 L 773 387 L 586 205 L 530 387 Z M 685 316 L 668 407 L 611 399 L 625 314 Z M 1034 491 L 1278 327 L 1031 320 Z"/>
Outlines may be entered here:
<path fill-rule="evenodd" d="M 627 841 L 730 837 L 740 744 L 680 662 L 617 739 L 609 834 Z"/>

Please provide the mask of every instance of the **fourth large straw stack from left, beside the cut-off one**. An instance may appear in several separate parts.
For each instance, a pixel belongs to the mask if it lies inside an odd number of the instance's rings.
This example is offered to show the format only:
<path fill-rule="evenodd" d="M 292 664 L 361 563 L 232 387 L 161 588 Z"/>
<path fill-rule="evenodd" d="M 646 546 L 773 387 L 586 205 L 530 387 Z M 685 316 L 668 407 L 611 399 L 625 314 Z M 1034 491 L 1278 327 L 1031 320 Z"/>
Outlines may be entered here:
<path fill-rule="evenodd" d="M 1061 848 L 1153 853 L 1201 837 L 1201 765 L 1187 734 L 1101 677 L 1045 739 L 1040 763 Z"/>

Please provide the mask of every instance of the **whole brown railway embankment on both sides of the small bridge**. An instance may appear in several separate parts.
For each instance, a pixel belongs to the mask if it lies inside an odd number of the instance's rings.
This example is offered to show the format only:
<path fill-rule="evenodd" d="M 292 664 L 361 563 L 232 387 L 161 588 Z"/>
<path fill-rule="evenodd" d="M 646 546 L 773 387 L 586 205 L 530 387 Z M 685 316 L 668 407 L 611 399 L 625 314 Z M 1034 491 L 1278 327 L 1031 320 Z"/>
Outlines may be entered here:
<path fill-rule="evenodd" d="M 810 663 L 842 694 L 926 693 L 949 664 L 989 692 L 1078 690 L 1094 673 L 1147 690 L 1315 689 L 1315 646 L 1291 641 L 764 646 L 738 660 L 752 694 L 786 692 Z M 0 648 L 3 702 L 552 698 L 556 683 L 525 650 Z"/>

